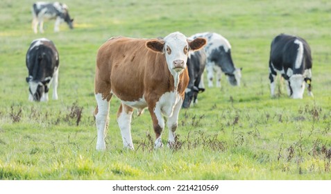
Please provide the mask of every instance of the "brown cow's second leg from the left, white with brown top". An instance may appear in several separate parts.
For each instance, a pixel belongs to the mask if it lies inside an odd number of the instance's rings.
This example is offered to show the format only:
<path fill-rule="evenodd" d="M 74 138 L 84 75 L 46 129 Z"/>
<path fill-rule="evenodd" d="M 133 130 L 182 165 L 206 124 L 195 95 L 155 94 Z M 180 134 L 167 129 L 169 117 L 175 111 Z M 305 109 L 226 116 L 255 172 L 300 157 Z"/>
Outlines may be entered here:
<path fill-rule="evenodd" d="M 117 112 L 117 123 L 119 123 L 119 129 L 121 130 L 121 136 L 124 144 L 124 148 L 130 148 L 134 150 L 133 141 L 131 137 L 131 118 L 133 114 L 133 108 L 124 105 L 123 103 L 119 107 Z"/>

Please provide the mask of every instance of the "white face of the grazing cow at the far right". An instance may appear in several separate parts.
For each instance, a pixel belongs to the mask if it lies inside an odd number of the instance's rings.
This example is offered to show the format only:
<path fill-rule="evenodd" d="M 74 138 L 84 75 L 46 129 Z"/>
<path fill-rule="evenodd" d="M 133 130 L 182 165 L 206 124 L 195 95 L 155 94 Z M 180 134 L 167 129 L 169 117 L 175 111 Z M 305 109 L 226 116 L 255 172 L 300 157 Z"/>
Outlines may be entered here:
<path fill-rule="evenodd" d="M 294 99 L 302 99 L 303 92 L 305 91 L 305 82 L 303 75 L 294 74 L 289 78 L 289 89 L 290 89 L 290 97 Z"/>

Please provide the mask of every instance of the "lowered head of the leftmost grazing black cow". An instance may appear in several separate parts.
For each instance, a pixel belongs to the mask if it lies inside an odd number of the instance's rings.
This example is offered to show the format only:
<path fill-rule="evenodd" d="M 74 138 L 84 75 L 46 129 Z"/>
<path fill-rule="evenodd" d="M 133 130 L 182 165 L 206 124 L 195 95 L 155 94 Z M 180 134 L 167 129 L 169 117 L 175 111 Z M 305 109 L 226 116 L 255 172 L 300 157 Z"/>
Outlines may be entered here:
<path fill-rule="evenodd" d="M 49 87 L 47 85 L 49 81 L 50 80 L 48 79 L 43 82 L 37 82 L 32 80 L 31 76 L 26 78 L 26 82 L 28 82 L 28 91 L 30 92 L 29 100 L 46 102 L 48 100 L 47 93 L 49 92 Z"/>

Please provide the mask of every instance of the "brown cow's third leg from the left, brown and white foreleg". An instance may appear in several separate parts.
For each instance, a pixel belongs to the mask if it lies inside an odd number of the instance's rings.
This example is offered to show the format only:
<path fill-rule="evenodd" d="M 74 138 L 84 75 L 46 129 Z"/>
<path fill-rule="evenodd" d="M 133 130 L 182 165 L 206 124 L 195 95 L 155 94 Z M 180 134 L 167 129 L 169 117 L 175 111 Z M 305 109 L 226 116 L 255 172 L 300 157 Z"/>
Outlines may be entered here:
<path fill-rule="evenodd" d="M 151 114 L 153 121 L 153 129 L 155 132 L 155 143 L 154 148 L 162 148 L 163 143 L 161 139 L 161 134 L 164 129 L 164 119 L 161 113 L 161 108 L 159 106 L 152 107 L 148 105 L 148 110 Z"/>

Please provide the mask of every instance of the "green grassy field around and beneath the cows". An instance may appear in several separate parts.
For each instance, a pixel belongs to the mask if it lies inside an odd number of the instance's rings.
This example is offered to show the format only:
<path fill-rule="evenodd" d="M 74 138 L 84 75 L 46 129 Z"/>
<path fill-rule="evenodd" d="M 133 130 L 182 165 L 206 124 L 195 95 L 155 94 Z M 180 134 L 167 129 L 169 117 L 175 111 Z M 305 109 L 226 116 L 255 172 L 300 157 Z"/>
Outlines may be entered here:
<path fill-rule="evenodd" d="M 62 24 L 53 33 L 46 21 L 42 35 L 31 29 L 32 3 L 0 3 L 0 179 L 331 179 L 331 1 L 67 0 L 74 30 Z M 243 67 L 241 87 L 224 76 L 221 89 L 207 88 L 198 105 L 182 109 L 172 150 L 153 150 L 148 112 L 133 118 L 135 151 L 124 150 L 112 98 L 107 150 L 96 152 L 99 46 L 112 36 L 173 31 L 226 37 Z M 289 99 L 282 85 L 270 97 L 270 43 L 279 33 L 310 44 L 314 98 Z M 25 55 L 40 37 L 60 53 L 59 100 L 31 103 Z"/>

